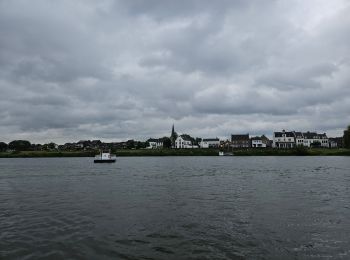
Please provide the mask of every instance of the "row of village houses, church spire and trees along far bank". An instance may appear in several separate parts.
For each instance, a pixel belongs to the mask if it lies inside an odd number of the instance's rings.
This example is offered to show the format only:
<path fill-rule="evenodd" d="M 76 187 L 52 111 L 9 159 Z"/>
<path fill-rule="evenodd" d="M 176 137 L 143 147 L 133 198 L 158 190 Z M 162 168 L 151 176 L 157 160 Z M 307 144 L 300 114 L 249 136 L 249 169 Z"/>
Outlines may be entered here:
<path fill-rule="evenodd" d="M 247 134 L 231 134 L 230 138 L 194 138 L 188 134 L 177 134 L 172 126 L 170 137 L 149 138 L 146 141 L 127 140 L 124 142 L 102 142 L 100 140 L 80 140 L 76 143 L 58 145 L 53 142 L 47 144 L 31 144 L 26 140 L 15 140 L 6 144 L 0 142 L 0 152 L 13 151 L 94 151 L 94 150 L 119 150 L 119 149 L 196 149 L 214 148 L 230 151 L 242 148 L 276 148 L 292 149 L 305 148 L 348 148 L 349 131 L 344 131 L 344 136 L 328 137 L 326 133 L 278 131 L 272 134 L 272 139 Z"/>

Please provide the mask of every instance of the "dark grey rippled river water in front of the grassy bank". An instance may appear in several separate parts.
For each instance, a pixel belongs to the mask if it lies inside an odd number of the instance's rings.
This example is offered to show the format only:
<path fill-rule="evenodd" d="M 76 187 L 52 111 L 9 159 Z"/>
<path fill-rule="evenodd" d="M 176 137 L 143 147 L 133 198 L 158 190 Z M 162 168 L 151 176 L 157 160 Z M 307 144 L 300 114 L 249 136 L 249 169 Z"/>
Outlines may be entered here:
<path fill-rule="evenodd" d="M 350 259 L 349 157 L 0 159 L 1 259 Z"/>

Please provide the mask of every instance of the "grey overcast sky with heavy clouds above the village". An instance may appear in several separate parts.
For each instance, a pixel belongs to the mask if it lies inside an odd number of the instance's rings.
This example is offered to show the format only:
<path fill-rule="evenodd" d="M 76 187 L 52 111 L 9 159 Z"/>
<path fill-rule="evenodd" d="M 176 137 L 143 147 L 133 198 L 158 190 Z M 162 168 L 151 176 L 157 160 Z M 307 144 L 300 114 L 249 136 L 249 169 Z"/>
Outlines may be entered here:
<path fill-rule="evenodd" d="M 0 141 L 350 124 L 348 0 L 0 0 Z"/>

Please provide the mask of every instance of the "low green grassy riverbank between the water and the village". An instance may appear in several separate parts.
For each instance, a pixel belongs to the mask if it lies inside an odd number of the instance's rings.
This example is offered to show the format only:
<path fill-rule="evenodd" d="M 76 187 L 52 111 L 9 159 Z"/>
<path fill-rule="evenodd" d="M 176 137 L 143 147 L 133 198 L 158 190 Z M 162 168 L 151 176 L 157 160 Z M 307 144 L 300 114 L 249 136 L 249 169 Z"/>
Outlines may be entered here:
<path fill-rule="evenodd" d="M 1 152 L 0 158 L 94 157 L 95 151 L 21 151 Z M 147 156 L 218 156 L 218 149 L 122 149 L 113 151 L 118 157 Z M 234 156 L 350 156 L 350 149 L 237 149 Z"/>

